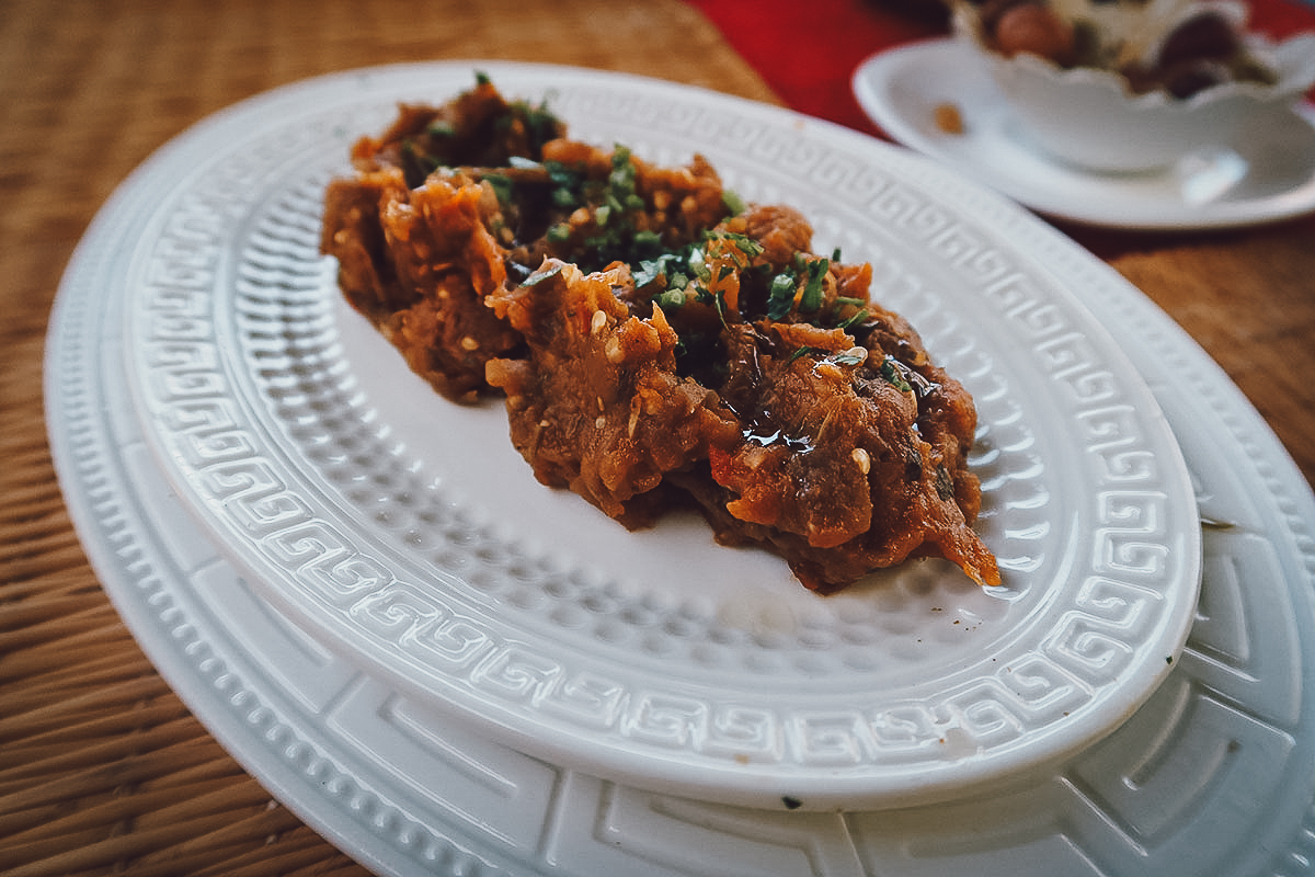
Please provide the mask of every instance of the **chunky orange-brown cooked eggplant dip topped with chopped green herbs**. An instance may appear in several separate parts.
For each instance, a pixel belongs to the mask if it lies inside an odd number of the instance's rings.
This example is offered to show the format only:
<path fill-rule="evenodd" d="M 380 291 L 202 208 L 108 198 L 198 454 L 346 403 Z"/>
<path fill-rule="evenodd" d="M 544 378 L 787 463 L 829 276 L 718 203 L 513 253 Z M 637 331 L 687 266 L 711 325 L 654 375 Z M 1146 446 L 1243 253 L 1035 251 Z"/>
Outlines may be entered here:
<path fill-rule="evenodd" d="M 999 584 L 972 397 L 797 210 L 572 141 L 483 76 L 351 160 L 342 293 L 452 402 L 501 394 L 540 483 L 630 529 L 694 506 L 818 593 L 924 556 Z"/>

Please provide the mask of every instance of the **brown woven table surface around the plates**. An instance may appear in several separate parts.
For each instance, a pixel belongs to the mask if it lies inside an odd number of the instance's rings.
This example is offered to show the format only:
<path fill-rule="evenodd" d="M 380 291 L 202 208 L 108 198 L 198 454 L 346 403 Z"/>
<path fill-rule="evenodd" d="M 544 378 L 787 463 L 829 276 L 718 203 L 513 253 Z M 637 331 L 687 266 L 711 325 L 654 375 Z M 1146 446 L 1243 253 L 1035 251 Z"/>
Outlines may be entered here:
<path fill-rule="evenodd" d="M 780 103 L 677 0 L 0 5 L 0 872 L 364 873 L 224 752 L 118 621 L 55 484 L 42 348 L 70 254 L 153 150 L 275 85 L 441 58 L 633 71 Z M 1201 342 L 1315 479 L 1315 220 L 1066 230 Z"/>

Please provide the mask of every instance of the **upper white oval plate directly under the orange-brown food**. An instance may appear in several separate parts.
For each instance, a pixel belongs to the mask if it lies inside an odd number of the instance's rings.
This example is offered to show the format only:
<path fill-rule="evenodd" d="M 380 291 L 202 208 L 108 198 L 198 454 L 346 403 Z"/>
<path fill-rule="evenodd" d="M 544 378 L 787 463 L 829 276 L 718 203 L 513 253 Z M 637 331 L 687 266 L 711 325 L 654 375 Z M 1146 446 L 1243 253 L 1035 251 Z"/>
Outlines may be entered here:
<path fill-rule="evenodd" d="M 944 563 L 803 590 L 700 521 L 631 534 L 537 484 L 500 405 L 455 406 L 339 304 L 320 193 L 397 100 L 483 68 L 577 137 L 701 151 L 874 266 L 973 392 L 980 531 Z M 379 68 L 241 104 L 133 178 L 125 300 L 159 465 L 275 606 L 460 727 L 664 793 L 786 809 L 995 788 L 1118 727 L 1169 672 L 1201 533 L 1159 405 L 1007 201 L 869 138 L 667 83 L 501 63 Z"/>

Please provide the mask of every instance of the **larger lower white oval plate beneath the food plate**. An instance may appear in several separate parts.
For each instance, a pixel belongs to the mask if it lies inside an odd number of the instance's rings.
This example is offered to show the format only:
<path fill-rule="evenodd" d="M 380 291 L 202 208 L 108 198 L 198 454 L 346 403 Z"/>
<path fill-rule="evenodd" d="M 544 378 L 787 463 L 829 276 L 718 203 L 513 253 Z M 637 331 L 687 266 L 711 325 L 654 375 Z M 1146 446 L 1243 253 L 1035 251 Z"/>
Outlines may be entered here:
<path fill-rule="evenodd" d="M 192 159 L 170 147 L 128 180 L 68 267 L 47 347 L 51 448 L 88 556 L 171 685 L 274 794 L 367 866 L 451 877 L 1310 872 L 1315 498 L 1223 372 L 1044 224 L 999 208 L 1018 246 L 1069 277 L 1123 341 L 1214 522 L 1190 640 L 1128 722 L 1031 784 L 898 811 L 773 813 L 617 785 L 502 747 L 317 639 L 225 559 L 150 447 L 126 367 L 135 317 L 128 297 L 105 295 L 141 256 L 143 229 L 162 227 L 154 172 Z M 187 325 L 176 309 L 160 318 Z"/>

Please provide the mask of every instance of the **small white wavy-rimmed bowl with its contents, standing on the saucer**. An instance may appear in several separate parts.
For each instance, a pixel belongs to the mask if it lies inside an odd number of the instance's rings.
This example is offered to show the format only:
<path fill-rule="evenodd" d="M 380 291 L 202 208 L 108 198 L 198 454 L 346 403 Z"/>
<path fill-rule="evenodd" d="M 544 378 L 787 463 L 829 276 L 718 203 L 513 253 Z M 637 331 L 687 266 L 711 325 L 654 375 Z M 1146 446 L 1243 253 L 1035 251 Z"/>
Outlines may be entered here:
<path fill-rule="evenodd" d="M 1262 135 L 1315 83 L 1315 34 L 1274 43 L 1231 0 L 969 0 L 955 32 L 1030 139 L 1088 171 L 1162 171 Z"/>

